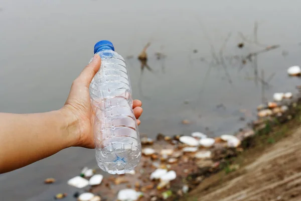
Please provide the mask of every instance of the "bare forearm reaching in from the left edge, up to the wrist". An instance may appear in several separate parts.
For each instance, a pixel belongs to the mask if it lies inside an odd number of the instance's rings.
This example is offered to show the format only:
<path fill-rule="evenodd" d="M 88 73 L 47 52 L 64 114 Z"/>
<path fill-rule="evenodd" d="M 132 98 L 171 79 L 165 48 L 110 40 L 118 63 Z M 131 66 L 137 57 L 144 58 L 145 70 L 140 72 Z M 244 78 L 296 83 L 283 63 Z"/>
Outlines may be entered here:
<path fill-rule="evenodd" d="M 74 137 L 70 127 L 73 122 L 62 111 L 0 113 L 0 173 L 26 166 L 72 146 Z"/>

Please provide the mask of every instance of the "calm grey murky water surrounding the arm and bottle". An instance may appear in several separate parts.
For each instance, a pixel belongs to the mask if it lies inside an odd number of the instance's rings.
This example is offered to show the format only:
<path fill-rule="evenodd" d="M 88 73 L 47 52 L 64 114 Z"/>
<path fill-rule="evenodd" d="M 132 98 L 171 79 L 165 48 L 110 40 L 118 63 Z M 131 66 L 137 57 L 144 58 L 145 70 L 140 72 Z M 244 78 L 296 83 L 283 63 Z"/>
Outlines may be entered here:
<path fill-rule="evenodd" d="M 298 6 L 298 1 L 271 0 L 4 0 L 0 2 L 0 111 L 35 113 L 62 107 L 73 79 L 93 55 L 95 42 L 106 39 L 124 57 L 134 55 L 127 62 L 133 96 L 143 102 L 141 134 L 190 134 L 206 132 L 206 127 L 210 135 L 233 133 L 246 124 L 239 120 L 245 117 L 240 110 L 247 110 L 246 120 L 255 118 L 250 114 L 262 99 L 261 84 L 254 81 L 254 58 L 239 70 L 241 61 L 235 55 L 245 57 L 265 46 L 281 45 L 257 56 L 258 75 L 264 70 L 265 78 L 271 78 L 265 96 L 293 92 L 299 84 L 286 75 L 288 66 L 300 63 Z M 263 46 L 245 43 L 238 48 L 240 33 L 256 40 L 255 21 Z M 142 73 L 136 55 L 147 42 L 153 72 L 144 68 Z M 158 60 L 156 52 L 166 57 Z M 182 125 L 184 119 L 192 124 Z M 86 165 L 96 166 L 93 150 L 64 150 L 0 175 L 1 197 L 52 200 L 58 192 L 76 190 L 66 181 Z M 46 177 L 58 182 L 43 185 Z"/>

